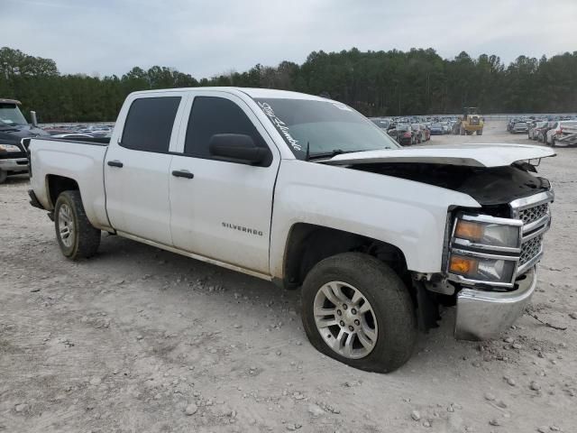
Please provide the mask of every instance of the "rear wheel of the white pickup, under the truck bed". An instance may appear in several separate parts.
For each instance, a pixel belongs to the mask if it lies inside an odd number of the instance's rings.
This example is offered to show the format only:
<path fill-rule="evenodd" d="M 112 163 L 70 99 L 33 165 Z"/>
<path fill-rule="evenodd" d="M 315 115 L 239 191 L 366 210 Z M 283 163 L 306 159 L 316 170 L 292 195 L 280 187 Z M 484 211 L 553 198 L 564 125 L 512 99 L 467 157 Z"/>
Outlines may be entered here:
<path fill-rule="evenodd" d="M 54 227 L 60 251 L 69 259 L 96 254 L 100 245 L 100 230 L 88 221 L 79 191 L 60 193 L 54 207 Z"/>

